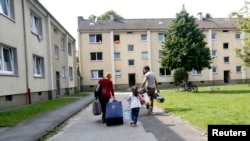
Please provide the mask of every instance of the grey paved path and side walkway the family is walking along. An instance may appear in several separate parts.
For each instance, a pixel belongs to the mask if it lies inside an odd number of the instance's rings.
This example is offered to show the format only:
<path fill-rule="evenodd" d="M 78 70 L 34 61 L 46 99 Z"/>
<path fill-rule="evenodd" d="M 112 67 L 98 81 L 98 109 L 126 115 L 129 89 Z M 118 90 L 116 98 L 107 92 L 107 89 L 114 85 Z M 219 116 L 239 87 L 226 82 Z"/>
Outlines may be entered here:
<path fill-rule="evenodd" d="M 128 93 L 116 94 L 117 99 L 123 102 L 125 108 L 127 102 L 123 100 L 128 96 Z M 93 116 L 93 100 L 93 95 L 81 98 L 72 104 L 0 132 L 0 141 L 36 141 L 62 123 L 66 123 L 66 127 L 49 140 L 207 141 L 203 130 L 190 125 L 176 116 L 167 114 L 157 107 L 155 107 L 152 115 L 147 115 L 147 110 L 144 107 L 141 108 L 136 131 L 126 122 L 120 126 L 107 127 L 101 123 L 100 116 Z M 99 133 L 98 138 L 96 138 L 96 133 Z"/>

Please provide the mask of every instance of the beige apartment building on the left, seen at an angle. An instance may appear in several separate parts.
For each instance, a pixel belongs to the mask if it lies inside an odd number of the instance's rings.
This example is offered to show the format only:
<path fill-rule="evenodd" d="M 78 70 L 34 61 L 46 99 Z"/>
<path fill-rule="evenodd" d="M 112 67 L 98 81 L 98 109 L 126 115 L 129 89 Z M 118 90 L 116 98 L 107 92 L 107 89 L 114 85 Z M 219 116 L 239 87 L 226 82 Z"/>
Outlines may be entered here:
<path fill-rule="evenodd" d="M 75 39 L 38 0 L 1 0 L 0 23 L 0 110 L 77 90 Z"/>

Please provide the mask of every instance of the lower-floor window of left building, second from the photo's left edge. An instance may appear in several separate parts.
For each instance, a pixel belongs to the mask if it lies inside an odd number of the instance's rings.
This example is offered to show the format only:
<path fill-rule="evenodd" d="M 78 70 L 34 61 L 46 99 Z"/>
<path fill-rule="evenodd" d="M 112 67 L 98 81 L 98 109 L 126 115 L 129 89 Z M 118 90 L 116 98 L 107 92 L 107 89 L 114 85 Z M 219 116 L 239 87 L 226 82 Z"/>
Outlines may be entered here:
<path fill-rule="evenodd" d="M 33 55 L 33 74 L 35 77 L 44 76 L 44 61 L 42 57 Z"/>

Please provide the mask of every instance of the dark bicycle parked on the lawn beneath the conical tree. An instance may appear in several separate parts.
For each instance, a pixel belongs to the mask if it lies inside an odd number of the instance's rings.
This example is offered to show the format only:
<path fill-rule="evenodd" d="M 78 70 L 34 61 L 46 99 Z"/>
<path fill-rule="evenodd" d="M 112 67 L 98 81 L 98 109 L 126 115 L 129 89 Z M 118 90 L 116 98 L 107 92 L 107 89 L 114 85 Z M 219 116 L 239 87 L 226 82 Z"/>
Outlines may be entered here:
<path fill-rule="evenodd" d="M 182 81 L 178 86 L 176 86 L 175 90 L 176 90 L 176 92 L 182 92 L 182 91 L 197 92 L 198 87 L 196 85 L 192 84 L 192 82 L 188 82 L 188 84 L 186 85 L 186 82 Z"/>

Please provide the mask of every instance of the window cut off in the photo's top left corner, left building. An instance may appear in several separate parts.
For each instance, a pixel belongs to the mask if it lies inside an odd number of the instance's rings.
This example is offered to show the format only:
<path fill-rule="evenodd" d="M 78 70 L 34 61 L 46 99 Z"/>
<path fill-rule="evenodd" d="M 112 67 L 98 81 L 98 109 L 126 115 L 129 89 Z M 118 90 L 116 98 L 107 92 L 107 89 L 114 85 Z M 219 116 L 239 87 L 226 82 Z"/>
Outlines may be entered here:
<path fill-rule="evenodd" d="M 14 2 L 13 0 L 0 0 L 0 13 L 14 19 Z"/>

